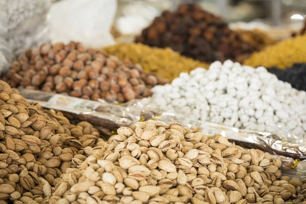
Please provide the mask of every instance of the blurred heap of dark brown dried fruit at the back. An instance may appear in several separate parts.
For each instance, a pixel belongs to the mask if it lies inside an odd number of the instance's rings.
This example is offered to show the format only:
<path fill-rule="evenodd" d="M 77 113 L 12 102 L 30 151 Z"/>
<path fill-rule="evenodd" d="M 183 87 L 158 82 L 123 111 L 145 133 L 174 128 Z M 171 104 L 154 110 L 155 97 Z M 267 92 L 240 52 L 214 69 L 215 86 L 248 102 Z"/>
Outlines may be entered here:
<path fill-rule="evenodd" d="M 176 52 L 203 62 L 231 59 L 242 61 L 257 51 L 218 16 L 195 4 L 164 11 L 136 38 L 150 46 L 171 47 Z"/>

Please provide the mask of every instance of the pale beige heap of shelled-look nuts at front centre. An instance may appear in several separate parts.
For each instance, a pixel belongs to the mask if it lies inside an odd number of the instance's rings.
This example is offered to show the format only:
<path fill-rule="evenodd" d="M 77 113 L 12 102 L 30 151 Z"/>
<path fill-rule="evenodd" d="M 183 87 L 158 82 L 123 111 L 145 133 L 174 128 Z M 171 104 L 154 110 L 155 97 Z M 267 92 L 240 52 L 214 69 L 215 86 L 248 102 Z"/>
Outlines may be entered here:
<path fill-rule="evenodd" d="M 281 160 L 221 135 L 157 121 L 117 133 L 44 203 L 305 203 L 306 183 L 281 177 Z"/>

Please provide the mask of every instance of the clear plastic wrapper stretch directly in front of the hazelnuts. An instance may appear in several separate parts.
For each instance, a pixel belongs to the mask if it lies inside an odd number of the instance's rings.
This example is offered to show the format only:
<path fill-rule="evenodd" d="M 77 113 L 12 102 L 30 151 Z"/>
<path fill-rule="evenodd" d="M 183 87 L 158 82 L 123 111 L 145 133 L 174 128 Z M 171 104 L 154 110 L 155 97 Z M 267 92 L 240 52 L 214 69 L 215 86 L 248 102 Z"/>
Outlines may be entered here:
<path fill-rule="evenodd" d="M 133 127 L 140 117 L 128 108 L 112 105 L 104 100 L 93 101 L 62 94 L 21 89 L 20 94 L 30 102 L 42 107 L 62 111 L 71 121 L 88 121 L 106 136 L 112 135 L 121 126 Z"/>

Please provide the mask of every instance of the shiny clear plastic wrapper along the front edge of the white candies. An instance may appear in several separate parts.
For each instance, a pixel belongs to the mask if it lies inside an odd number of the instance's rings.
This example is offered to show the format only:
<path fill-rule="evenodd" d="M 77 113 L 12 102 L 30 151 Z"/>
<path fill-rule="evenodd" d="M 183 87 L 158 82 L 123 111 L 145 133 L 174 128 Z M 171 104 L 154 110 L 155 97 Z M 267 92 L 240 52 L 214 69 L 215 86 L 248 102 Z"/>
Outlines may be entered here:
<path fill-rule="evenodd" d="M 230 141 L 247 148 L 258 148 L 271 154 L 290 157 L 293 159 L 306 159 L 306 146 L 302 141 L 291 135 L 286 129 L 279 127 L 278 133 L 266 133 L 259 131 L 250 131 L 220 125 L 212 122 L 200 121 L 173 114 L 171 112 L 163 113 L 156 117 L 162 122 L 180 122 L 188 127 L 200 127 L 202 132 L 208 135 L 220 134 L 227 137 Z M 296 142 L 293 143 L 294 139 Z"/>

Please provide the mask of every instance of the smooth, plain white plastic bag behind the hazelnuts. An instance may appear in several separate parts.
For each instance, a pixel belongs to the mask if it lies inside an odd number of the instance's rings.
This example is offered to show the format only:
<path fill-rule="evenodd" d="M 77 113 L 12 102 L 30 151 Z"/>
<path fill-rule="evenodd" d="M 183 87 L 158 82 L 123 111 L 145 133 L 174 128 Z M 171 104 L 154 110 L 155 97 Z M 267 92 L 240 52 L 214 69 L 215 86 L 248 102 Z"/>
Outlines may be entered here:
<path fill-rule="evenodd" d="M 87 47 L 115 43 L 110 31 L 117 10 L 116 0 L 64 0 L 50 9 L 53 42 L 82 42 Z"/>

